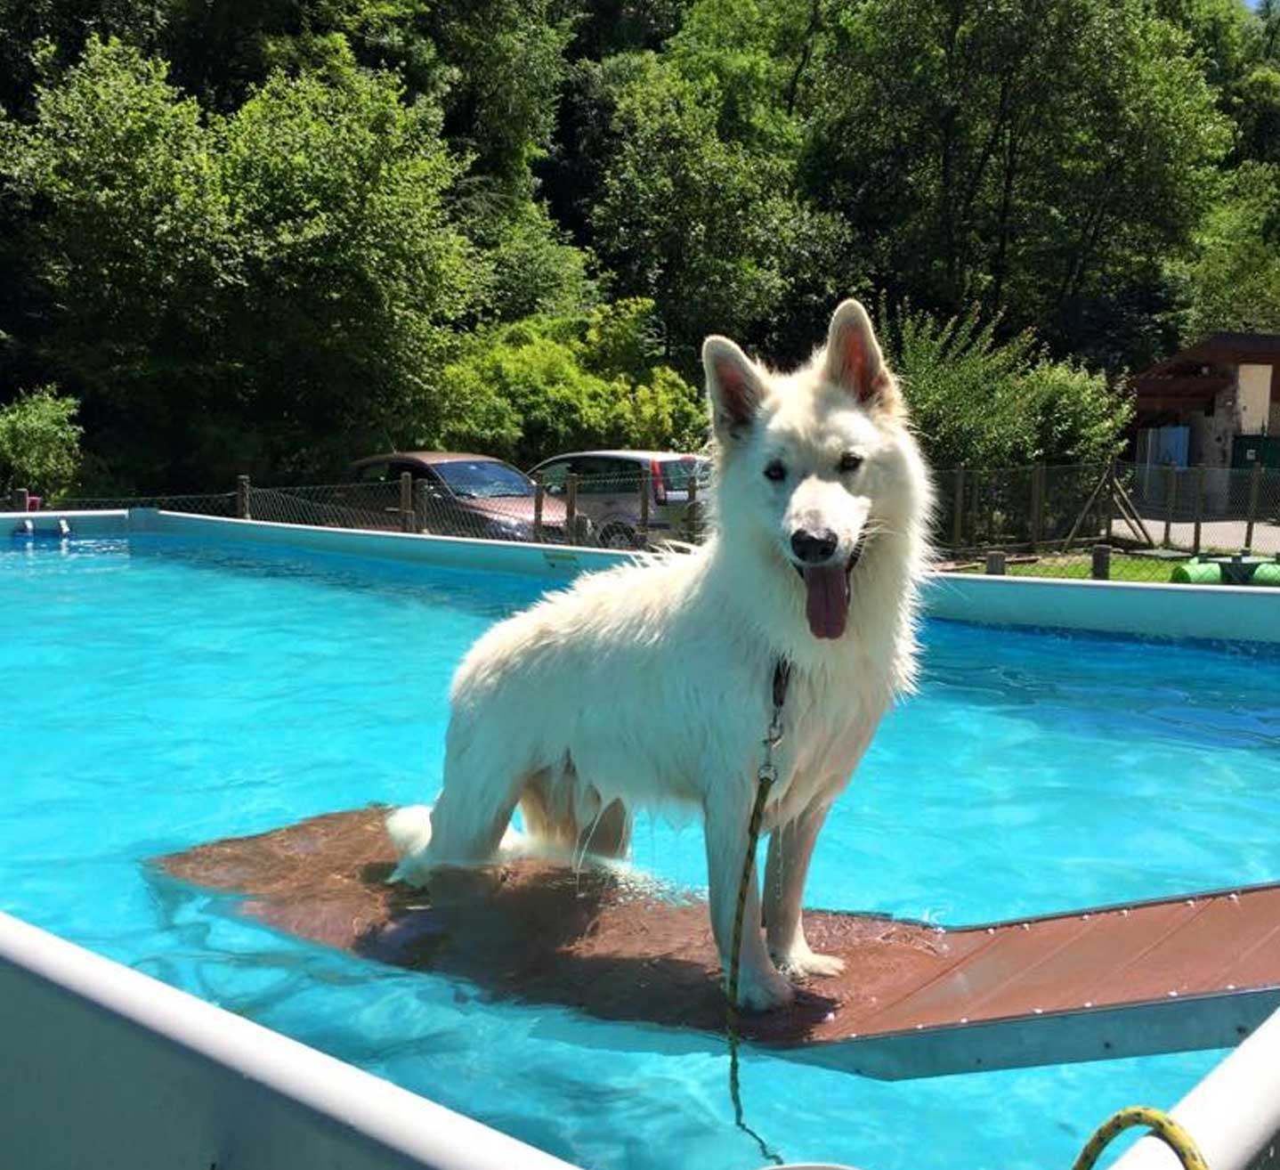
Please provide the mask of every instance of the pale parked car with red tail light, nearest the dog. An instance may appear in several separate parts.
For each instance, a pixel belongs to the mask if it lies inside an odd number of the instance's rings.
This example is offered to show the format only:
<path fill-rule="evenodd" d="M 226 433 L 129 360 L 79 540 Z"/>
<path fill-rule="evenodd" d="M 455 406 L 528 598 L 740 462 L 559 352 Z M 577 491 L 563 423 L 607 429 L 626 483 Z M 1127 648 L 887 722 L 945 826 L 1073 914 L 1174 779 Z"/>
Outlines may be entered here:
<path fill-rule="evenodd" d="M 548 499 L 563 501 L 570 474 L 579 476 L 579 513 L 590 518 L 598 544 L 639 548 L 641 474 L 649 470 L 649 533 L 686 534 L 689 485 L 699 489 L 710 475 L 703 456 L 673 451 L 577 451 L 544 460 L 530 471 L 541 476 Z"/>

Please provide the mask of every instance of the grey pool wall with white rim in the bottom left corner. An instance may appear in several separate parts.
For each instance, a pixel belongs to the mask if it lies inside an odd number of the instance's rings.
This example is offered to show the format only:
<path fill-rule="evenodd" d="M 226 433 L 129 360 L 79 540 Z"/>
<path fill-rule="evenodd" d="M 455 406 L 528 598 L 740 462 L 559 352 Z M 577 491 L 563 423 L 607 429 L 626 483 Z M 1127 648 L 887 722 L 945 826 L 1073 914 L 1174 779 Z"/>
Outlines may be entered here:
<path fill-rule="evenodd" d="M 0 1037 L 6 1167 L 572 1170 L 8 914 Z"/>

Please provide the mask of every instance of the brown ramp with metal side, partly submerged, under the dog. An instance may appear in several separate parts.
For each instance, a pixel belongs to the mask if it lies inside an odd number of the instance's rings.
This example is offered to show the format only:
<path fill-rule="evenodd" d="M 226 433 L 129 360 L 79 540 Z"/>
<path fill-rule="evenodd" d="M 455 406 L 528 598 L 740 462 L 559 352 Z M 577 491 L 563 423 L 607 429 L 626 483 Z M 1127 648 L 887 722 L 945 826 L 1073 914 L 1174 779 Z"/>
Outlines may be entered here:
<path fill-rule="evenodd" d="M 705 906 L 641 878 L 520 861 L 428 904 L 387 885 L 384 809 L 315 817 L 159 859 L 302 938 L 467 979 L 494 998 L 724 1029 Z M 840 977 L 742 1032 L 872 1077 L 1234 1045 L 1280 1006 L 1280 885 L 948 929 L 806 910 Z"/>

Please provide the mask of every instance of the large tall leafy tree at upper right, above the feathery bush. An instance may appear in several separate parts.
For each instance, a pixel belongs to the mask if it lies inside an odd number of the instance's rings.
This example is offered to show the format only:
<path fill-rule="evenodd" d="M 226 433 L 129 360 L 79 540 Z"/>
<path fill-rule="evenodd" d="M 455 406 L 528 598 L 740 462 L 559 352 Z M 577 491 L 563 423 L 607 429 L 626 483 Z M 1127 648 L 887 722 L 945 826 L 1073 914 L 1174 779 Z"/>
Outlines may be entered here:
<path fill-rule="evenodd" d="M 1080 306 L 1187 246 L 1230 141 L 1188 35 L 1142 0 L 868 0 L 815 52 L 804 189 L 877 283 L 1007 307 L 1060 351 L 1107 349 Z"/>

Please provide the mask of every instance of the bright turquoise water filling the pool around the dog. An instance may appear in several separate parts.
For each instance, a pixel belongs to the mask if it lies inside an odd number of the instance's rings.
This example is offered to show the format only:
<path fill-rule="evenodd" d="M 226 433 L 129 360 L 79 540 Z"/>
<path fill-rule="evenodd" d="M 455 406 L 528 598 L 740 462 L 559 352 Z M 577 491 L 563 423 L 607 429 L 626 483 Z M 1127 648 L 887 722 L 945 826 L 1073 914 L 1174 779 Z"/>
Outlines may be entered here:
<path fill-rule="evenodd" d="M 0 909 L 593 1170 L 749 1170 L 703 1037 L 494 1005 L 298 942 L 147 859 L 430 799 L 460 655 L 540 582 L 161 538 L 0 548 Z M 818 846 L 810 905 L 956 924 L 1280 878 L 1280 658 L 931 623 Z M 690 664 L 694 669 L 695 664 Z M 696 826 L 635 861 L 704 882 Z M 749 1051 L 788 1161 L 1066 1166 L 1220 1054 L 886 1084 Z"/>

